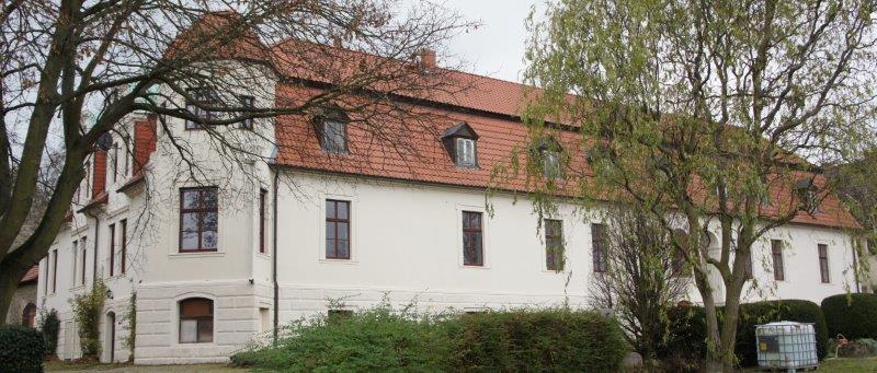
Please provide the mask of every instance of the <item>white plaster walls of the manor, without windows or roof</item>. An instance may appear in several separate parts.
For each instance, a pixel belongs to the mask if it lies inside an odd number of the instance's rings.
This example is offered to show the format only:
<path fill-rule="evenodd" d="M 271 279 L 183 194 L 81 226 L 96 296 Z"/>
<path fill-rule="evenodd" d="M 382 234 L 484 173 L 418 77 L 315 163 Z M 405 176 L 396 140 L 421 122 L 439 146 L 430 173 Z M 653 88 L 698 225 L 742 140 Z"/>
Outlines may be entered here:
<path fill-rule="evenodd" d="M 273 84 L 265 75 L 263 84 Z M 258 97 L 270 102 L 273 97 Z M 133 117 L 132 120 L 135 120 Z M 351 310 L 366 307 L 385 294 L 394 303 L 417 301 L 421 307 L 454 307 L 474 311 L 486 307 L 546 306 L 568 303 L 588 307 L 588 281 L 592 276 L 591 223 L 597 214 L 582 214 L 572 203 L 561 202 L 566 242 L 566 269 L 546 269 L 545 246 L 537 218 L 529 202 L 498 194 L 489 199 L 483 189 L 390 180 L 355 175 L 281 168 L 276 186 L 272 170 L 259 162 L 227 165 L 217 161 L 215 150 L 201 131 L 183 130 L 182 120 L 171 121 L 174 136 L 185 139 L 195 158 L 219 188 L 218 249 L 215 253 L 180 253 L 180 188 L 193 186 L 180 168 L 166 135 L 158 136 L 157 151 L 146 167 L 147 183 L 124 193 L 116 189 L 130 175 L 107 182 L 109 202 L 91 209 L 96 217 L 75 213 L 69 226 L 57 236 L 57 268 L 41 263 L 38 302 L 59 311 L 60 359 L 79 357 L 77 326 L 71 320 L 69 299 L 88 291 L 92 276 L 103 279 L 112 291 L 101 326 L 103 361 L 126 361 L 128 349 L 128 296 L 137 293 L 136 349 L 138 364 L 226 361 L 273 322 L 272 260 L 277 265 L 278 323 L 328 311 L 330 300 L 343 299 Z M 123 124 L 128 126 L 129 124 Z M 266 141 L 253 143 L 265 156 L 273 138 L 270 120 L 255 126 Z M 248 137 L 236 127 L 224 129 Z M 260 148 L 261 147 L 261 148 Z M 107 162 L 107 166 L 111 162 Z M 230 168 L 229 168 L 230 167 Z M 246 170 L 243 170 L 246 168 Z M 266 253 L 259 253 L 259 190 L 277 190 L 276 257 L 273 257 L 273 221 L 267 213 Z M 324 257 L 326 199 L 351 202 L 351 258 Z M 482 267 L 463 265 L 462 211 L 485 212 Z M 128 221 L 127 264 L 109 277 L 109 224 Z M 94 236 L 95 222 L 98 236 Z M 84 283 L 81 247 L 73 241 L 87 237 Z M 98 240 L 96 268 L 93 266 Z M 805 299 L 820 302 L 824 296 L 855 290 L 851 237 L 844 231 L 813 225 L 788 225 L 771 233 L 787 243 L 784 250 L 785 281 L 773 281 L 770 272 L 770 242 L 755 253 L 754 277 L 761 291 L 747 293 L 759 299 Z M 119 240 L 119 235 L 116 235 Z M 817 245 L 828 245 L 831 281 L 820 280 Z M 116 247 L 121 243 L 117 242 Z M 81 246 L 81 245 L 80 245 Z M 118 266 L 118 261 L 116 261 Z M 96 272 L 95 272 L 96 270 Z M 55 283 L 53 290 L 53 283 Z M 189 298 L 214 302 L 213 341 L 180 343 L 179 302 Z M 692 301 L 697 302 L 696 291 Z M 109 315 L 115 315 L 115 338 L 110 341 Z"/>

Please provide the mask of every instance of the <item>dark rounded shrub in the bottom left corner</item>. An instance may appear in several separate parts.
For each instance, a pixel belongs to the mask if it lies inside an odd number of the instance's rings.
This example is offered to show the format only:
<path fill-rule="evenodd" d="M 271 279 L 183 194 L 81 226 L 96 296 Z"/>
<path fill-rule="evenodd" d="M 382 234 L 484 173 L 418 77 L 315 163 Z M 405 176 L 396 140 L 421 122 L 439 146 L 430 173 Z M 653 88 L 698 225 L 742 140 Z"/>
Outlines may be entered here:
<path fill-rule="evenodd" d="M 0 326 L 0 372 L 43 372 L 46 341 L 36 329 Z"/>

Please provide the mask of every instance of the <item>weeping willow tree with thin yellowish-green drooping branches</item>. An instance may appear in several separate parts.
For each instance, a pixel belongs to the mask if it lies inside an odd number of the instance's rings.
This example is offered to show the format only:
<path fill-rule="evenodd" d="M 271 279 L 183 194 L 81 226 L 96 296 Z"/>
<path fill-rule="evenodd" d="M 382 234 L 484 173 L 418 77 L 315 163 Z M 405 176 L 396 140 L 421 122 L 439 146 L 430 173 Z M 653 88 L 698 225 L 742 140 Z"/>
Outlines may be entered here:
<path fill-rule="evenodd" d="M 562 178 L 529 184 L 535 200 L 647 206 L 664 229 L 685 230 L 674 245 L 705 307 L 709 371 L 734 365 L 760 238 L 793 221 L 856 225 L 822 208 L 836 198 L 817 165 L 853 156 L 873 136 L 874 5 L 560 0 L 527 21 L 525 81 L 540 90 L 525 123 L 534 143 L 566 139 Z M 546 154 L 556 158 L 531 158 Z"/>

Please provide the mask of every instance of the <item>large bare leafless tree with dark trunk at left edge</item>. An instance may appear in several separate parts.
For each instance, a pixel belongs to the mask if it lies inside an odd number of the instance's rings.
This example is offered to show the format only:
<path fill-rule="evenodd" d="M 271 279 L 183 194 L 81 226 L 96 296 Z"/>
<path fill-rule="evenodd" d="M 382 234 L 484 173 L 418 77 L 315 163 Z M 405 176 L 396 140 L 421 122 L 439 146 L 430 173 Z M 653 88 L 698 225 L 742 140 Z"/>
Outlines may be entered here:
<path fill-rule="evenodd" d="M 62 226 L 87 172 L 83 161 L 106 133 L 128 136 L 116 125 L 132 113 L 157 116 L 160 136 L 197 180 L 205 177 L 193 161 L 200 144 L 173 133 L 171 118 L 197 123 L 224 163 L 267 162 L 251 145 L 283 147 L 273 135 L 240 137 L 226 128 L 343 107 L 363 132 L 398 136 L 381 120 L 414 114 L 397 95 L 428 98 L 460 90 L 460 82 L 443 79 L 444 70 L 417 68 L 415 56 L 467 25 L 425 2 L 402 9 L 392 0 L 3 2 L 0 317 L 21 276 L 46 255 Z M 280 83 L 260 84 L 266 75 Z M 298 94 L 261 106 L 225 94 L 274 97 L 284 88 Z M 406 123 L 412 129 L 418 124 Z M 57 172 L 47 173 L 50 167 Z M 45 203 L 35 202 L 37 187 L 45 188 Z M 29 219 L 34 226 L 24 230 Z"/>

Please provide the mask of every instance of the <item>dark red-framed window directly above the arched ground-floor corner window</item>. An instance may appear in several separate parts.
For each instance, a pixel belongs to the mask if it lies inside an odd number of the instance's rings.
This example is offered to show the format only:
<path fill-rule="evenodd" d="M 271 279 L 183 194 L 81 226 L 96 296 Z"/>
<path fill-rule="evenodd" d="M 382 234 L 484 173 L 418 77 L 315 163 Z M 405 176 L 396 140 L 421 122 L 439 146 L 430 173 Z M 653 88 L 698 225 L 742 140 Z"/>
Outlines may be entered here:
<path fill-rule="evenodd" d="M 180 252 L 216 252 L 218 220 L 216 187 L 180 189 Z"/>

